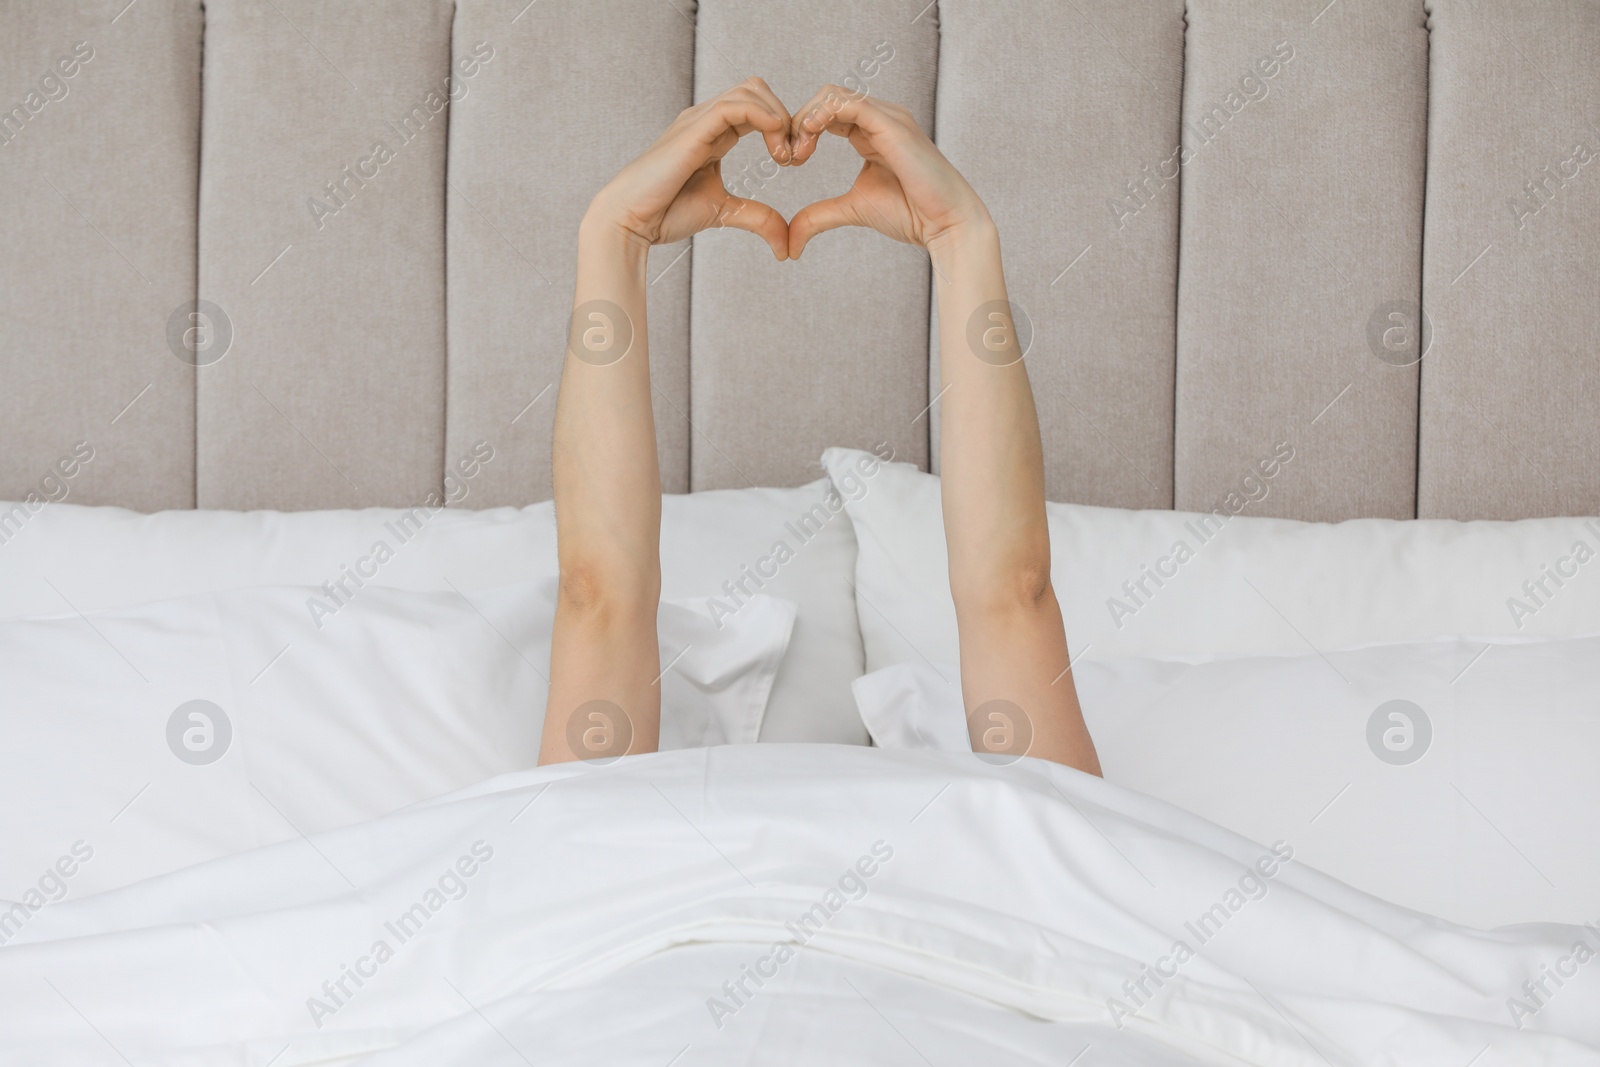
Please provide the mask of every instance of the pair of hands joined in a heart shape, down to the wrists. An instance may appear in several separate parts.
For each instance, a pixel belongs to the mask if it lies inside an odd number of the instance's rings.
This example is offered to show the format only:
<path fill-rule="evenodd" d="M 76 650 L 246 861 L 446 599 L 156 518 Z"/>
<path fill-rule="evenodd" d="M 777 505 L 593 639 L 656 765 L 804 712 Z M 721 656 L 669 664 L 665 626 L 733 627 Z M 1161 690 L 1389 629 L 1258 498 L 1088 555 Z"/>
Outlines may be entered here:
<path fill-rule="evenodd" d="M 770 205 L 723 186 L 722 160 L 749 133 L 762 134 L 779 166 L 805 165 L 824 133 L 845 138 L 862 158 L 861 173 L 843 195 L 786 222 Z M 645 245 L 714 227 L 749 230 L 778 259 L 798 259 L 813 237 L 842 226 L 933 248 L 963 227 L 990 224 L 982 200 L 906 107 L 826 85 L 790 114 L 762 78 L 680 114 L 595 197 L 586 222 L 600 219 Z"/>

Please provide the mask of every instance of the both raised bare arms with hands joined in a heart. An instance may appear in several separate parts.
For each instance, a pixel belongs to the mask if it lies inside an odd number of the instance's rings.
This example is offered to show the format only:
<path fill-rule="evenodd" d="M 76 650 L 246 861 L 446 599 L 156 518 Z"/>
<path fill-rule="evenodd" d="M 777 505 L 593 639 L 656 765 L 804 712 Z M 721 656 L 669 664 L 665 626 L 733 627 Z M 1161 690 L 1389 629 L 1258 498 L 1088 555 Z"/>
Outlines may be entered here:
<path fill-rule="evenodd" d="M 803 166 L 824 134 L 843 138 L 861 173 L 786 222 L 723 186 L 722 160 L 749 133 L 779 166 Z M 1043 450 L 994 219 L 904 107 L 827 85 L 790 112 L 760 78 L 678 115 L 595 195 L 578 232 L 552 448 L 562 579 L 541 763 L 659 744 L 656 395 L 682 408 L 650 379 L 650 248 L 733 227 L 798 259 L 842 226 L 925 248 L 938 275 L 941 496 L 973 750 L 1099 773 L 1050 584 Z"/>

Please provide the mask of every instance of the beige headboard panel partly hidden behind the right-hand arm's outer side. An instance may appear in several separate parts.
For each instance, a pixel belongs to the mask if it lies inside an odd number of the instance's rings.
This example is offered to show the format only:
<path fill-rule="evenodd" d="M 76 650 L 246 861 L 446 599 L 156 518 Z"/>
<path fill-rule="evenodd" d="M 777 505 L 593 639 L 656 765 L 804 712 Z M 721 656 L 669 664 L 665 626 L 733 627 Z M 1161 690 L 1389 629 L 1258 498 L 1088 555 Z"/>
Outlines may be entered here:
<path fill-rule="evenodd" d="M 939 147 L 989 205 L 1034 325 L 1046 493 L 1171 507 L 1178 184 L 1152 176 L 1178 144 L 1182 0 L 939 13 Z M 933 366 L 936 392 L 936 342 Z"/>

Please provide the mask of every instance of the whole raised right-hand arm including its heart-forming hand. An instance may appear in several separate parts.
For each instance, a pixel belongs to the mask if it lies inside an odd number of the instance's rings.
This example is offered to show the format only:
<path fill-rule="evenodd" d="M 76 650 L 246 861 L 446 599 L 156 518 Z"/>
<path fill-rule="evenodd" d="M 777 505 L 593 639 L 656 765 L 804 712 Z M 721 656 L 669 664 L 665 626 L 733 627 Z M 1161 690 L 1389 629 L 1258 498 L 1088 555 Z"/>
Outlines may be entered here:
<path fill-rule="evenodd" d="M 926 248 L 933 259 L 944 533 L 973 750 L 1026 752 L 1099 774 L 1050 584 L 1038 418 L 994 221 L 904 107 L 827 86 L 794 120 L 797 163 L 811 157 L 822 131 L 848 138 L 866 163 L 848 194 L 790 221 L 790 258 L 816 234 L 867 226 Z M 1018 744 L 1024 736 L 1026 749 Z"/>

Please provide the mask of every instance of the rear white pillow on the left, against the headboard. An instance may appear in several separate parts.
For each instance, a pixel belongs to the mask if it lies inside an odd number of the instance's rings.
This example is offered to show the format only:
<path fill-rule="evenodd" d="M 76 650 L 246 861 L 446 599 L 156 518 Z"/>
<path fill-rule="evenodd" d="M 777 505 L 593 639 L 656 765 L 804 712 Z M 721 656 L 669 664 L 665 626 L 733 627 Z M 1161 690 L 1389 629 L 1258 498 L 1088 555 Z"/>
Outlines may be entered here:
<path fill-rule="evenodd" d="M 470 501 L 470 480 L 454 499 Z M 856 541 L 826 502 L 827 480 L 792 490 L 718 490 L 664 496 L 662 597 L 718 597 L 725 584 L 798 605 L 794 641 L 778 672 L 762 741 L 866 744 L 850 681 L 862 672 L 850 589 Z M 837 499 L 837 498 L 835 498 Z M 818 510 L 821 509 L 821 510 Z M 0 504 L 0 518 L 8 506 Z M 390 557 L 378 563 L 373 547 Z M 760 579 L 755 568 L 786 542 L 792 558 Z M 365 560 L 365 563 L 363 563 Z M 251 585 L 322 585 L 349 574 L 366 585 L 454 592 L 554 577 L 549 502 L 331 512 L 158 512 L 48 504 L 0 523 L 0 619 L 123 608 Z M 742 601 L 744 593 L 738 593 Z"/>

